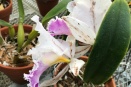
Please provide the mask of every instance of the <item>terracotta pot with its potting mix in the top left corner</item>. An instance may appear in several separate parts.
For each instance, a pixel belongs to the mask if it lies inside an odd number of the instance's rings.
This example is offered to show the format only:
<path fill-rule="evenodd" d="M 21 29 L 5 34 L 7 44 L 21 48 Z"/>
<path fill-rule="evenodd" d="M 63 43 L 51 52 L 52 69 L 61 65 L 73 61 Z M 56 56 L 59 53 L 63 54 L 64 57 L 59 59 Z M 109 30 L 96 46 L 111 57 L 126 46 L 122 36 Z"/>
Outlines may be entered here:
<path fill-rule="evenodd" d="M 9 22 L 9 17 L 12 12 L 12 0 L 0 1 L 0 19 Z"/>

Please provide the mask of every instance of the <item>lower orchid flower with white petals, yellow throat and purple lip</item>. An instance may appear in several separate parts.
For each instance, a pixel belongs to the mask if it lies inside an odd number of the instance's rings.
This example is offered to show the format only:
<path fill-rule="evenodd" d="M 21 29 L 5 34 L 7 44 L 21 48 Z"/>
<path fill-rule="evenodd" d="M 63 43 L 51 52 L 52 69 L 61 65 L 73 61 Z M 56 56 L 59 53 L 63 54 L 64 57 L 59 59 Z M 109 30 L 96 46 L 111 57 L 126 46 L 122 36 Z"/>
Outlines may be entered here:
<path fill-rule="evenodd" d="M 35 30 L 40 33 L 40 36 L 38 37 L 37 46 L 28 52 L 28 55 L 32 55 L 34 60 L 33 69 L 29 74 L 24 74 L 24 78 L 29 81 L 28 86 L 39 87 L 41 74 L 47 68 L 59 62 L 70 62 L 67 68 L 70 66 L 73 74 L 78 75 L 84 61 L 78 60 L 77 58 L 85 54 L 89 46 L 75 47 L 75 38 L 73 36 L 68 36 L 66 41 L 57 40 L 43 28 L 38 16 L 34 16 L 32 20 L 36 22 Z M 75 54 L 77 54 L 77 56 L 75 56 Z M 68 58 L 70 58 L 70 60 Z"/>

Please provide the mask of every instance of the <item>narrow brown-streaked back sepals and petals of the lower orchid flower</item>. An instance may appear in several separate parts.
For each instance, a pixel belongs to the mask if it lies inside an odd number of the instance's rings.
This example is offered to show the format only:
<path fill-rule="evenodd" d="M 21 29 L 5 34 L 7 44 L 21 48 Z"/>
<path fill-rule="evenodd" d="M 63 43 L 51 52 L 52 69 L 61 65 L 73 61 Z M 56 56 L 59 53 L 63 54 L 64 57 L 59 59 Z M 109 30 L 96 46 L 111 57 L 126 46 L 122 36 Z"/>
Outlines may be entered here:
<path fill-rule="evenodd" d="M 68 55 L 70 58 L 70 63 L 68 63 L 68 65 L 66 65 L 65 68 L 56 77 L 42 82 L 40 84 L 40 87 L 56 84 L 60 80 L 60 78 L 68 71 L 68 69 L 71 70 L 71 72 L 74 74 L 74 76 L 78 76 L 79 70 L 85 64 L 85 62 L 83 60 L 79 60 L 77 58 L 84 55 L 89 50 L 90 45 L 76 47 L 75 46 L 75 38 L 73 36 L 68 36 L 66 41 L 61 40 L 60 42 L 62 44 L 65 44 L 65 43 L 70 44 L 70 47 L 69 47 L 70 50 L 68 51 L 70 53 L 70 55 Z M 67 55 L 67 54 L 65 54 L 65 55 Z"/>

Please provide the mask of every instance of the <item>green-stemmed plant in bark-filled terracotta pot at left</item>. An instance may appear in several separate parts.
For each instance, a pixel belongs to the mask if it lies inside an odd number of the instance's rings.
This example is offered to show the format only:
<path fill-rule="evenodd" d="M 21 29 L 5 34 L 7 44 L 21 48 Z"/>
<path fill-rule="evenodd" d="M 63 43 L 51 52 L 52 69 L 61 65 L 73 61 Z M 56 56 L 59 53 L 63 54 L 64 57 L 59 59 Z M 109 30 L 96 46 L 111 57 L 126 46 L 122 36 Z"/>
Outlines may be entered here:
<path fill-rule="evenodd" d="M 23 24 L 22 0 L 17 0 L 17 2 L 19 9 L 18 24 L 11 25 L 4 20 L 0 20 L 0 25 L 6 26 L 0 29 L 0 71 L 4 72 L 13 82 L 24 84 L 27 81 L 23 79 L 23 74 L 29 73 L 29 70 L 33 67 L 31 57 L 26 55 L 29 49 L 28 44 L 36 38 L 38 33 L 32 30 L 32 26 Z M 26 33 L 28 33 L 28 36 Z"/>

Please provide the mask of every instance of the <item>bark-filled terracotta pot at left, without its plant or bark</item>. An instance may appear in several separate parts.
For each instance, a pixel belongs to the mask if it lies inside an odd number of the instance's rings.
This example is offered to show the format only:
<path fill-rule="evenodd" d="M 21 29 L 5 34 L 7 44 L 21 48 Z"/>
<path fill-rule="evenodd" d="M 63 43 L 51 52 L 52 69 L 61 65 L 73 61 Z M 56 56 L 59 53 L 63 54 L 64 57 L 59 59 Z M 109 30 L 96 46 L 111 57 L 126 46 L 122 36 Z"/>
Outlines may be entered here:
<path fill-rule="evenodd" d="M 18 29 L 18 26 L 15 25 L 14 28 Z M 24 25 L 25 32 L 30 32 L 32 30 L 32 26 Z M 2 36 L 8 35 L 8 28 L 3 27 L 0 29 Z M 21 67 L 9 67 L 4 66 L 0 64 L 0 71 L 4 72 L 13 82 L 17 84 L 25 84 L 27 83 L 26 80 L 23 78 L 24 73 L 29 73 L 29 70 L 31 70 L 33 67 L 33 63 L 28 64 L 27 66 L 21 66 Z"/>

